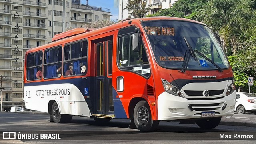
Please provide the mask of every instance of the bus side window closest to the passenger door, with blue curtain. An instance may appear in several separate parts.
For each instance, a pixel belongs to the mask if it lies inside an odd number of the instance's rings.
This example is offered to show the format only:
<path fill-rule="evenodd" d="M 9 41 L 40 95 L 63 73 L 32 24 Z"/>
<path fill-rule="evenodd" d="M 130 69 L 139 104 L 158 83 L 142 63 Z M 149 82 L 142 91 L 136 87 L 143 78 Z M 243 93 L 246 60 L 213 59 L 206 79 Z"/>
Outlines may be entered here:
<path fill-rule="evenodd" d="M 87 46 L 87 41 L 83 41 L 64 47 L 64 76 L 86 74 Z"/>

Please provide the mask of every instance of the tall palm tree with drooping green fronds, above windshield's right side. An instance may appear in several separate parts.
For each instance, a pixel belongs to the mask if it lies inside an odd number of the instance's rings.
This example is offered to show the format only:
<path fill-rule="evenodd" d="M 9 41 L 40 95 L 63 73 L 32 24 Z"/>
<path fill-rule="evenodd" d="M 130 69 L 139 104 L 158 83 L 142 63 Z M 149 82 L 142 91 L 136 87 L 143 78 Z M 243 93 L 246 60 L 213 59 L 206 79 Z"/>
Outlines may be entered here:
<path fill-rule="evenodd" d="M 253 26 L 255 18 L 252 0 L 210 0 L 199 10 L 196 18 L 214 32 L 220 33 L 222 47 L 228 54 L 236 54 L 239 40 Z"/>

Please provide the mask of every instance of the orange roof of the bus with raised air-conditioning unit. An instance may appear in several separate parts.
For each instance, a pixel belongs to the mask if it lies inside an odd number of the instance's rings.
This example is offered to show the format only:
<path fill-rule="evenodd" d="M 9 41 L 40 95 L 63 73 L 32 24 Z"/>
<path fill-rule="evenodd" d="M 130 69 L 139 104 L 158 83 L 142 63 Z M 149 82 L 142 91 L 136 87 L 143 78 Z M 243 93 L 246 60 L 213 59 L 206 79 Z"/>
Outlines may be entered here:
<path fill-rule="evenodd" d="M 106 32 L 111 32 L 126 26 L 129 26 L 131 24 L 140 24 L 142 21 L 150 21 L 150 20 L 177 20 L 177 21 L 185 21 L 185 22 L 194 22 L 197 24 L 203 24 L 202 22 L 198 22 L 195 20 L 190 20 L 186 18 L 177 18 L 177 17 L 168 17 L 168 16 L 157 16 L 157 17 L 146 17 L 146 18 L 135 18 L 135 19 L 125 19 L 121 22 L 118 22 L 116 24 L 112 24 L 110 26 L 106 26 L 99 29 L 94 28 L 75 28 L 72 30 L 68 30 L 66 32 L 62 32 L 60 34 L 56 34 L 52 38 L 52 43 L 45 44 L 44 46 L 38 46 L 36 48 L 32 48 L 30 50 L 27 50 L 26 53 L 36 52 L 38 50 L 42 50 L 45 48 L 51 48 L 54 46 L 60 46 L 62 44 L 66 44 L 68 41 L 68 38 L 71 36 L 80 36 L 82 35 L 83 38 L 89 38 L 91 36 L 96 36 L 98 34 L 104 34 Z M 205 24 L 203 24 L 205 25 Z M 77 38 L 78 38 L 77 37 Z M 73 38 L 73 37 L 72 37 Z M 74 37 L 76 38 L 76 37 Z"/>

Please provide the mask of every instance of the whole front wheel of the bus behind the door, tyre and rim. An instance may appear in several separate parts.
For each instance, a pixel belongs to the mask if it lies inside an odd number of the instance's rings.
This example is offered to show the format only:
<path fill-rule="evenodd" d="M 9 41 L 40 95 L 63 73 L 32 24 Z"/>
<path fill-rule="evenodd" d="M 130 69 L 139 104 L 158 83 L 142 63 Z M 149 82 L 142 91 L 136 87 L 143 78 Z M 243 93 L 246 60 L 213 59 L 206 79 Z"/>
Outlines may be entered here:
<path fill-rule="evenodd" d="M 153 131 L 159 124 L 158 120 L 152 120 L 151 111 L 146 101 L 140 101 L 136 104 L 133 119 L 136 128 L 142 132 Z"/>

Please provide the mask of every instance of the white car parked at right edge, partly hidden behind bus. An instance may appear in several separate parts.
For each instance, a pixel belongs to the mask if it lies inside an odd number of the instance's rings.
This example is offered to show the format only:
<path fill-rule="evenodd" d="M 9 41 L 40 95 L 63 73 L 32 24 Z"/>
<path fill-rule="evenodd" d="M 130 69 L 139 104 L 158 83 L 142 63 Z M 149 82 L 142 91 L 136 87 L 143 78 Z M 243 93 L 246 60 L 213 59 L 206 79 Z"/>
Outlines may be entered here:
<path fill-rule="evenodd" d="M 237 92 L 235 110 L 237 114 L 252 112 L 256 114 L 256 94 Z"/>

